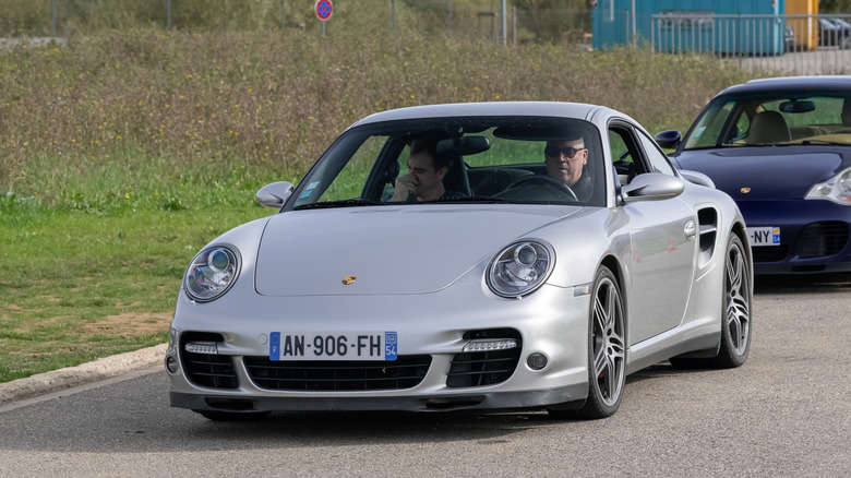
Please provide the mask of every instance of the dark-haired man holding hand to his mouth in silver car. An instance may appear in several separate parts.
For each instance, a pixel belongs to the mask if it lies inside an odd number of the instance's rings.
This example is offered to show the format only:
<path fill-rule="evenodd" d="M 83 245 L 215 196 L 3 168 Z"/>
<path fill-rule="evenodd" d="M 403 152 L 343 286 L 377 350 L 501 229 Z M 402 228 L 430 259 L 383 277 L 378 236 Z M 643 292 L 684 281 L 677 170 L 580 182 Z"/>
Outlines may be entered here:
<path fill-rule="evenodd" d="M 413 140 L 408 153 L 408 174 L 396 178 L 391 202 L 438 201 L 463 194 L 444 188 L 443 177 L 450 170 L 447 158 L 438 153 L 434 140 Z"/>

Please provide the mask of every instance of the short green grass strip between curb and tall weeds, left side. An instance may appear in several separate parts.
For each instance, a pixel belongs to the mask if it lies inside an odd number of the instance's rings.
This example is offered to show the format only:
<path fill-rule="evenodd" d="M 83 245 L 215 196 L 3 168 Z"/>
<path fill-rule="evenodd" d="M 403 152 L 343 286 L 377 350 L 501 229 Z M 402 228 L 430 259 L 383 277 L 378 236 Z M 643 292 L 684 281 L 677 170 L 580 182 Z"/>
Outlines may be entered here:
<path fill-rule="evenodd" d="M 101 215 L 9 202 L 0 215 L 0 381 L 166 342 L 190 259 L 268 214 L 224 204 Z"/>

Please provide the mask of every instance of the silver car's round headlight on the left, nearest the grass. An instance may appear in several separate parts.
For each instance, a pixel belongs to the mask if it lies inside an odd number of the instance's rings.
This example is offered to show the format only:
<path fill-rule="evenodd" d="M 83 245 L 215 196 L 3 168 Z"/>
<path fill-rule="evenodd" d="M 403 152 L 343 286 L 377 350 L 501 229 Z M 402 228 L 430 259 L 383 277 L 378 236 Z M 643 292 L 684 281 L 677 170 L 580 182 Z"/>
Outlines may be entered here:
<path fill-rule="evenodd" d="M 195 255 L 183 276 L 183 288 L 193 300 L 208 302 L 225 294 L 239 275 L 239 258 L 215 246 Z"/>

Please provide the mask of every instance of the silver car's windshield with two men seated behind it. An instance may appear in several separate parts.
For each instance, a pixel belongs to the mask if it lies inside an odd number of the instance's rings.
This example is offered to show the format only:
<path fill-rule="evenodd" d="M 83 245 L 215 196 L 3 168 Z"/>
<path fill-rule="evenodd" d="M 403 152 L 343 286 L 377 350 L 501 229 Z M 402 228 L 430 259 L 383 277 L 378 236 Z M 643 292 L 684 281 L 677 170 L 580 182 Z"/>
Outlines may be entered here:
<path fill-rule="evenodd" d="M 291 207 L 603 205 L 600 145 L 594 124 L 565 118 L 453 117 L 368 124 L 334 142 L 297 188 Z"/>

